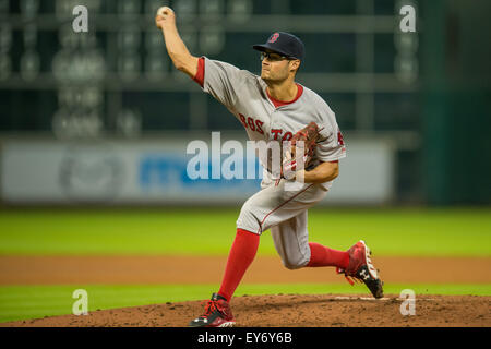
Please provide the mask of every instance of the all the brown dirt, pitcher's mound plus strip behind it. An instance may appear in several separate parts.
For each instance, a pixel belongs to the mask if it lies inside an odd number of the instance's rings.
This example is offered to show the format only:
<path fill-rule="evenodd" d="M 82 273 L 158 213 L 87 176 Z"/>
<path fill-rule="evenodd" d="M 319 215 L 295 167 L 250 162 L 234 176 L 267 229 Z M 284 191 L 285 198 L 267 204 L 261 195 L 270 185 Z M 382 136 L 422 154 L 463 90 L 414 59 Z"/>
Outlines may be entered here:
<path fill-rule="evenodd" d="M 0 285 L 217 284 L 226 257 L 1 256 Z M 387 282 L 490 284 L 491 258 L 378 257 Z M 196 267 L 196 265 L 199 267 Z M 278 257 L 259 256 L 243 282 L 344 282 L 334 268 L 287 270 Z M 209 294 L 215 290 L 209 290 Z M 203 299 L 209 297 L 203 294 Z M 491 297 L 416 296 L 416 315 L 403 316 L 398 294 L 239 296 L 231 301 L 238 326 L 400 327 L 491 326 Z M 203 313 L 202 301 L 98 310 L 0 324 L 34 327 L 181 327 Z"/>

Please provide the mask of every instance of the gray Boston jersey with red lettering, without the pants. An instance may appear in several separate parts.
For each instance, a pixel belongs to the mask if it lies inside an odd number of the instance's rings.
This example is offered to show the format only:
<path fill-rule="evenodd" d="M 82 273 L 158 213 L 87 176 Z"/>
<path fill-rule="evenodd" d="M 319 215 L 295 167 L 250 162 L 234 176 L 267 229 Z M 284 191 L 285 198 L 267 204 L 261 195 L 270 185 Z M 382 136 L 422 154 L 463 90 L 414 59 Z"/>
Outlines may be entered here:
<path fill-rule="evenodd" d="M 251 141 L 288 141 L 314 121 L 324 140 L 316 147 L 311 164 L 334 161 L 346 156 L 343 135 L 333 110 L 313 91 L 299 85 L 301 95 L 294 103 L 275 107 L 266 93 L 266 83 L 258 75 L 204 58 L 203 91 L 225 105 L 243 124 Z M 271 161 L 260 158 L 271 172 Z M 322 184 L 325 189 L 332 182 Z"/>

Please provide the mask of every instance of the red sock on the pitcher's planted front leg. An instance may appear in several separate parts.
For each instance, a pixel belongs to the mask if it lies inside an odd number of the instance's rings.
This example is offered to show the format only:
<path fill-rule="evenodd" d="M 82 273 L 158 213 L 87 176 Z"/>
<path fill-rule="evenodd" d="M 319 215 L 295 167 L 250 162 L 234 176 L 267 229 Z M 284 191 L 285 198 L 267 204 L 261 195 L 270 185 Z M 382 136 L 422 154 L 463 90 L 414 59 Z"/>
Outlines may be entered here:
<path fill-rule="evenodd" d="M 228 254 L 227 266 L 218 294 L 227 301 L 233 296 L 242 280 L 246 270 L 251 265 L 258 252 L 260 236 L 247 230 L 237 229 L 236 239 Z"/>

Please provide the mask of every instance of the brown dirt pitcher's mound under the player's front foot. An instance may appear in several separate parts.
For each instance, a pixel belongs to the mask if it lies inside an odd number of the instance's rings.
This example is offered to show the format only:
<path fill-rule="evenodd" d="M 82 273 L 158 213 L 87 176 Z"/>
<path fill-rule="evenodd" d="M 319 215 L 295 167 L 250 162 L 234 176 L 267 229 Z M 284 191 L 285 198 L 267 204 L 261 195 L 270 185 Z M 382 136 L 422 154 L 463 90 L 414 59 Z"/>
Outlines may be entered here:
<path fill-rule="evenodd" d="M 183 327 L 203 302 L 180 302 L 0 324 L 1 327 Z M 243 327 L 490 327 L 491 297 L 416 296 L 415 315 L 403 316 L 398 296 L 375 300 L 344 294 L 237 297 L 231 306 Z"/>

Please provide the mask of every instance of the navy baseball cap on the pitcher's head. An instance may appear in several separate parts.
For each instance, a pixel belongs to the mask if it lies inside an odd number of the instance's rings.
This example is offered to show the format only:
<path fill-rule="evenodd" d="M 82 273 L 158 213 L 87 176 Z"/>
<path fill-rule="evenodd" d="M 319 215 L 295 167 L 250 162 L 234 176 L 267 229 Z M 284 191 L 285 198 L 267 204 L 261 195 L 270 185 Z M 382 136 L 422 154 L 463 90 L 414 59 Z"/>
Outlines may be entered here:
<path fill-rule="evenodd" d="M 271 50 L 301 61 L 306 57 L 306 48 L 302 40 L 295 35 L 285 32 L 273 33 L 266 44 L 258 44 L 252 46 L 252 48 L 258 51 Z"/>

